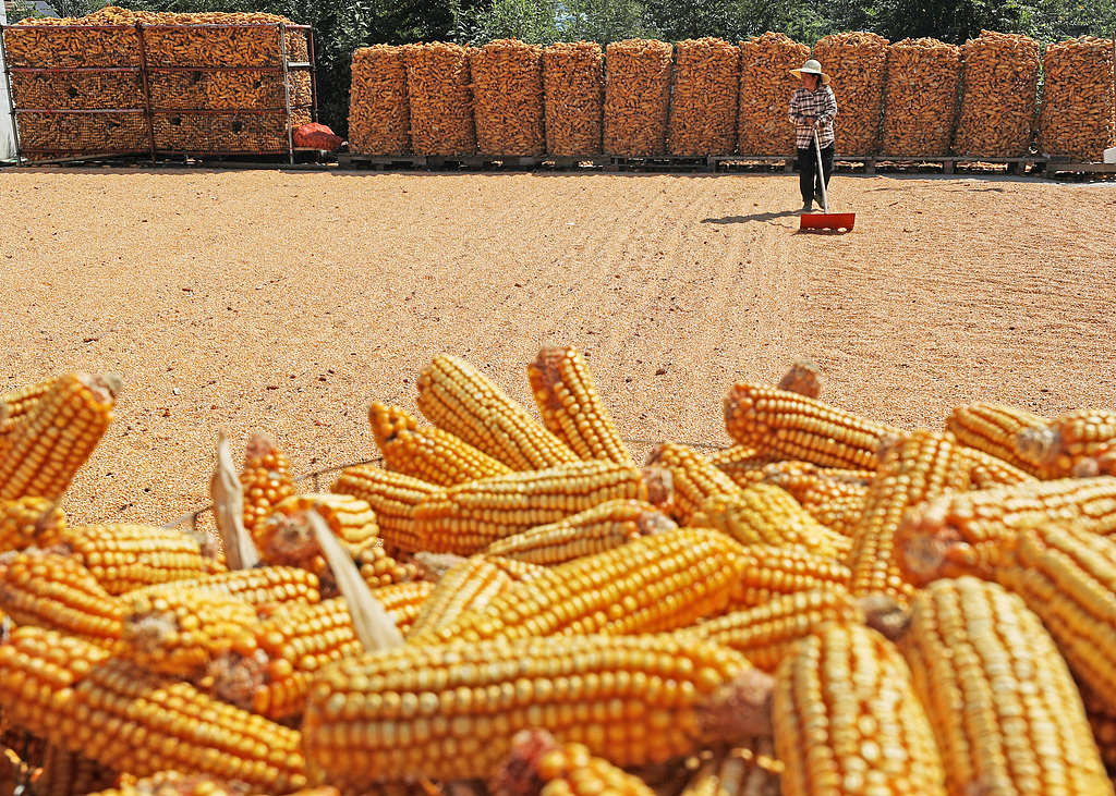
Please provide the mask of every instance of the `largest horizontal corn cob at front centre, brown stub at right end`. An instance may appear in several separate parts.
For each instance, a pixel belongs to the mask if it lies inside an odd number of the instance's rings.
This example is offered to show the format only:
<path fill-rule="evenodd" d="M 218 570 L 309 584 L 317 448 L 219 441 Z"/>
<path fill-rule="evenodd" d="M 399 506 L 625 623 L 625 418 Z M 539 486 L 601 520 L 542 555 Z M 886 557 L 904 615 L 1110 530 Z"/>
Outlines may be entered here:
<path fill-rule="evenodd" d="M 770 732 L 769 688 L 739 653 L 668 634 L 406 644 L 323 671 L 302 740 L 338 786 L 491 777 L 527 728 L 648 765 Z"/>

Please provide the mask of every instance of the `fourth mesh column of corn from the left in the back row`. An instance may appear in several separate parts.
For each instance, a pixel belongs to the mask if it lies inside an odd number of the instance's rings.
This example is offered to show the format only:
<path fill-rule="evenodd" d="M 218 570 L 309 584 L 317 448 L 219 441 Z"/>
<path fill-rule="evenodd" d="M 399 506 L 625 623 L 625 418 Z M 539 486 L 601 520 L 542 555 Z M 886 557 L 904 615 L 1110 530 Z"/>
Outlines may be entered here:
<path fill-rule="evenodd" d="M 595 41 L 558 42 L 542 51 L 549 154 L 600 154 L 604 65 L 604 52 Z"/>

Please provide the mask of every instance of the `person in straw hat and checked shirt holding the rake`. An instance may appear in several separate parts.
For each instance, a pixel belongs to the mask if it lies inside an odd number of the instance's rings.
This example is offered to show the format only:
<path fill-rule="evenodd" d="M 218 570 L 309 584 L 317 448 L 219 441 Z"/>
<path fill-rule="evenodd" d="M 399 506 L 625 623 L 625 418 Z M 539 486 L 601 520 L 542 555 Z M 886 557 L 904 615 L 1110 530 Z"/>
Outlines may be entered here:
<path fill-rule="evenodd" d="M 821 181 L 829 187 L 829 176 L 834 172 L 834 116 L 837 115 L 837 98 L 829 88 L 829 76 L 821 71 L 821 65 L 812 58 L 801 69 L 790 74 L 802 81 L 790 98 L 790 120 L 795 125 L 795 145 L 798 147 L 798 187 L 802 192 L 802 212 L 814 212 L 814 200 L 821 202 Z M 818 174 L 818 156 L 814 143 L 814 132 L 818 133 L 821 145 L 821 169 Z"/>

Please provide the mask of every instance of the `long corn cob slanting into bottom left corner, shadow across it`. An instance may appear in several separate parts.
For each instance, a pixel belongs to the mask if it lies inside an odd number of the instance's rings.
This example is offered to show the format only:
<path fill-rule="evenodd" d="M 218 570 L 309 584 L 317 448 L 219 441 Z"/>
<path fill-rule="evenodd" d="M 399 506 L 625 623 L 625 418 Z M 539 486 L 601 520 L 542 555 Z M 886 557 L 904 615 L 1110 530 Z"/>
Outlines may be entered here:
<path fill-rule="evenodd" d="M 51 744 L 141 777 L 211 774 L 269 794 L 306 784 L 296 730 L 40 628 L 17 628 L 0 644 L 0 710 Z"/>

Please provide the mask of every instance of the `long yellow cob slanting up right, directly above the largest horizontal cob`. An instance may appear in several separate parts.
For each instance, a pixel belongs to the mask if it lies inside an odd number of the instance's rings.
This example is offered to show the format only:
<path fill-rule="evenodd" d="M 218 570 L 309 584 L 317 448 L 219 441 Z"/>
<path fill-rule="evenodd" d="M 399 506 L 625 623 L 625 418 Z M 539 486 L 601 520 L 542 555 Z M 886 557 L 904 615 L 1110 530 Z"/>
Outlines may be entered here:
<path fill-rule="evenodd" d="M 676 528 L 556 564 L 487 608 L 440 628 L 440 641 L 674 630 L 724 610 L 740 545 L 706 528 Z"/>

